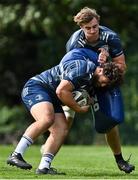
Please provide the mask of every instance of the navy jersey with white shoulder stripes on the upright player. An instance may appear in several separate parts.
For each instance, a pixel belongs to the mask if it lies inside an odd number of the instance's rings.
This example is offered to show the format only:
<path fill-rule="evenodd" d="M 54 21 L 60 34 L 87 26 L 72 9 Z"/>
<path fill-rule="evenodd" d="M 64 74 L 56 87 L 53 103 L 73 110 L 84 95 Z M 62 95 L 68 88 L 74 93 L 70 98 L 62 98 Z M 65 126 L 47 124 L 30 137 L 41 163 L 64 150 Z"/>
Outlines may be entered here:
<path fill-rule="evenodd" d="M 99 26 L 99 33 L 99 40 L 96 43 L 89 43 L 85 38 L 83 30 L 79 29 L 68 40 L 66 45 L 67 52 L 81 47 L 87 47 L 98 52 L 98 49 L 103 47 L 109 52 L 111 58 L 123 54 L 120 38 L 114 31 L 105 26 Z"/>

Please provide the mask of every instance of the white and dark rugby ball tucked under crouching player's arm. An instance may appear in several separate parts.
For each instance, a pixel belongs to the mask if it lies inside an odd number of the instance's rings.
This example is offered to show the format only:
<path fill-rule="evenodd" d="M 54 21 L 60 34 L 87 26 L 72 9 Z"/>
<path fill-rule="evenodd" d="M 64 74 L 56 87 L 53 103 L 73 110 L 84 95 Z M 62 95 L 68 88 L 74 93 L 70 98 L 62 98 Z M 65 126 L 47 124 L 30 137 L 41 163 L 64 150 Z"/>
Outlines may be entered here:
<path fill-rule="evenodd" d="M 90 105 L 91 98 L 86 90 L 84 90 L 84 89 L 75 90 L 72 92 L 72 94 L 73 94 L 75 101 L 80 106 Z"/>

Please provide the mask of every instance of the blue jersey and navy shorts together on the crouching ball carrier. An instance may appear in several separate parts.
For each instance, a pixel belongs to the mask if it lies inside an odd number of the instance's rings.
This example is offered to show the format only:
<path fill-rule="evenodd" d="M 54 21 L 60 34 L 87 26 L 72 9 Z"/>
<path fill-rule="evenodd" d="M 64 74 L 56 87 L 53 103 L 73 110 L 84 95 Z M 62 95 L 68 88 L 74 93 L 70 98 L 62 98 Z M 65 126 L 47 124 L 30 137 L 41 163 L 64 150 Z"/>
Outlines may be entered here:
<path fill-rule="evenodd" d="M 98 55 L 92 50 L 77 48 L 67 53 L 57 66 L 29 79 L 21 94 L 28 110 L 46 101 L 53 104 L 55 113 L 63 113 L 62 102 L 56 95 L 57 86 L 64 79 L 72 83 L 74 90 L 89 88 L 97 59 Z"/>

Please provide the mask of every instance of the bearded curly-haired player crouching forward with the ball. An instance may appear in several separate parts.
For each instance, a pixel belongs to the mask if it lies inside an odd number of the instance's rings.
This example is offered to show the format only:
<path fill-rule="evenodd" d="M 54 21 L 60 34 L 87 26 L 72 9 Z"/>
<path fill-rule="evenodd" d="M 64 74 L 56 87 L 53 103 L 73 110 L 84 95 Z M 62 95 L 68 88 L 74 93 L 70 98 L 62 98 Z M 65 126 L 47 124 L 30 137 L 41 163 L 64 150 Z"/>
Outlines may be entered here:
<path fill-rule="evenodd" d="M 37 174 L 57 174 L 50 168 L 50 162 L 63 144 L 68 134 L 68 123 L 62 105 L 75 112 L 85 113 L 89 105 L 79 106 L 72 91 L 118 84 L 122 80 L 121 71 L 115 63 L 96 66 L 98 55 L 87 48 L 77 48 L 68 52 L 59 65 L 30 78 L 22 91 L 22 100 L 35 122 L 23 134 L 7 163 L 22 169 L 32 165 L 23 159 L 24 152 L 44 132 L 50 132 Z M 53 129 L 55 134 L 53 133 Z"/>

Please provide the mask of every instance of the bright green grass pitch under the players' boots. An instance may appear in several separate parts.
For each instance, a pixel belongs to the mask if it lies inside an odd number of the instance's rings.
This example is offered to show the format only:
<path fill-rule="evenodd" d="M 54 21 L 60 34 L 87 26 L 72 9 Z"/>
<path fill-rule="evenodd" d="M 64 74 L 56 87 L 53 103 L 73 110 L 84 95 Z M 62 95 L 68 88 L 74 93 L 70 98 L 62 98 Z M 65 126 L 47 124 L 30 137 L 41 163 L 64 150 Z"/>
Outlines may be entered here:
<path fill-rule="evenodd" d="M 123 147 L 124 157 L 132 153 L 131 163 L 136 170 L 131 174 L 120 171 L 107 146 L 63 146 L 52 166 L 66 175 L 36 175 L 40 161 L 40 146 L 32 146 L 25 160 L 32 170 L 21 170 L 6 164 L 13 146 L 0 146 L 0 179 L 138 179 L 138 147 Z"/>

